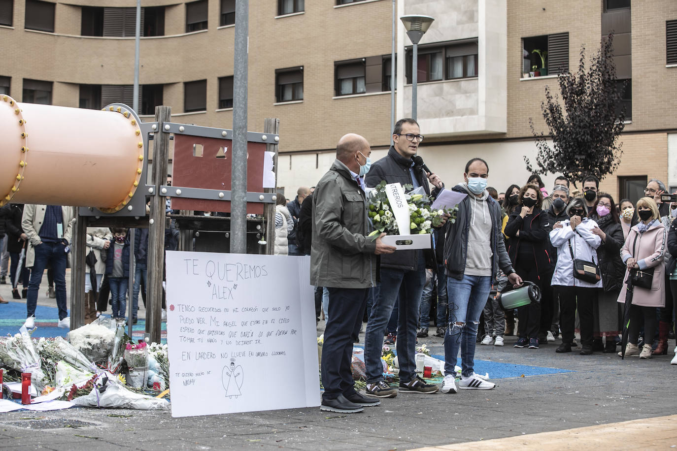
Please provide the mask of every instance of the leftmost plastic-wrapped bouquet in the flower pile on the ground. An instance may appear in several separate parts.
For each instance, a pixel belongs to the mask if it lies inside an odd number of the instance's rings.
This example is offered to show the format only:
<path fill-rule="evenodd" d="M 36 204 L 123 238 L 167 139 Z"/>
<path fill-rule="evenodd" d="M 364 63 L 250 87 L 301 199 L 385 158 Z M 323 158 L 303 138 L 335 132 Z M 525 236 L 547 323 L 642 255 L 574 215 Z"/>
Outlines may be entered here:
<path fill-rule="evenodd" d="M 38 392 L 45 387 L 40 356 L 26 327 L 22 327 L 16 335 L 0 337 L 0 362 L 7 368 L 30 373 L 30 381 Z"/>

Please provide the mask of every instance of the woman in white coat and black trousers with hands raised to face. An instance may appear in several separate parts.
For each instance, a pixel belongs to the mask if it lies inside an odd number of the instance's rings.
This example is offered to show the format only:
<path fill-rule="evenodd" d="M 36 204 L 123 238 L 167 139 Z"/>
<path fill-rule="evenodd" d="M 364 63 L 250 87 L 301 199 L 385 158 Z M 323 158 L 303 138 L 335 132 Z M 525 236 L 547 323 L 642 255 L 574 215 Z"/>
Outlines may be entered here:
<path fill-rule="evenodd" d="M 569 220 L 554 224 L 550 242 L 557 249 L 557 265 L 552 275 L 552 285 L 559 285 L 560 327 L 562 344 L 555 352 L 571 352 L 576 310 L 581 324 L 582 355 L 592 354 L 592 333 L 594 327 L 593 304 L 597 298 L 602 279 L 596 283 L 573 277 L 573 260 L 586 260 L 598 264 L 597 248 L 602 239 L 592 233 L 598 227 L 594 220 L 587 218 L 583 199 L 575 197 L 567 208 Z"/>

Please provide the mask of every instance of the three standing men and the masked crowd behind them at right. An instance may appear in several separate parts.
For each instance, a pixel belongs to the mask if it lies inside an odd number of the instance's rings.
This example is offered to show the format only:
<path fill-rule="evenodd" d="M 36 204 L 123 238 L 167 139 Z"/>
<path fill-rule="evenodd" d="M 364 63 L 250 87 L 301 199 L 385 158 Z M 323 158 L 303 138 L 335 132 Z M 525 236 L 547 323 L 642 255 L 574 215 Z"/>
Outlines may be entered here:
<path fill-rule="evenodd" d="M 548 193 L 538 174 L 498 192 L 487 186 L 489 164 L 473 158 L 463 181 L 445 188 L 420 158 L 413 158 L 424 138 L 416 120 L 399 120 L 392 138 L 387 156 L 374 164 L 364 137 L 341 138 L 334 164 L 313 192 L 299 189 L 294 199 L 301 205 L 299 215 L 291 207 L 284 214 L 294 224 L 282 218 L 278 224 L 280 237 L 289 237 L 294 228 L 306 240 L 311 237 L 303 244 L 297 235 L 294 244 L 311 255 L 316 293 L 328 293 L 324 300 L 316 296 L 315 305 L 318 317 L 318 303 L 328 311 L 322 410 L 361 412 L 380 404 L 378 398 L 401 392 L 492 389 L 495 384 L 474 371 L 475 349 L 477 343 L 505 346 L 510 335 L 516 338 L 509 344 L 531 350 L 561 336 L 557 353 L 572 348 L 582 355 L 668 353 L 677 303 L 677 198 L 664 200 L 661 181 L 649 181 L 645 197 L 635 203 L 616 203 L 599 190 L 595 176 L 577 181 L 580 195 L 564 176 Z M 396 251 L 381 241 L 384 234 L 367 236 L 367 187 L 381 181 L 423 187 L 433 197 L 441 189 L 466 197 L 456 219 L 433 231 L 433 249 Z M 279 204 L 284 210 L 284 201 Z M 504 311 L 501 293 L 527 283 L 538 287 L 540 301 Z M 365 394 L 355 391 L 350 369 L 363 319 Z M 444 339 L 445 377 L 439 386 L 422 379 L 414 362 L 416 339 L 429 336 L 431 319 L 435 335 Z M 619 352 L 627 319 L 628 343 Z M 397 348 L 397 387 L 384 379 L 384 342 Z M 675 352 L 672 364 L 677 364 Z"/>

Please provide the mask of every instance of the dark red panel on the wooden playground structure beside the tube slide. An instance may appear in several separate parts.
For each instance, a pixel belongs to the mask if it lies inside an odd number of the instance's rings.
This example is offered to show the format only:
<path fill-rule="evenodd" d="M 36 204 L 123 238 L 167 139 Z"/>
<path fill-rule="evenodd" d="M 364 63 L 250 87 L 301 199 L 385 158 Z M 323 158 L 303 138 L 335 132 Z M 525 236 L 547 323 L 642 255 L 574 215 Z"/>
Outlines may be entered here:
<path fill-rule="evenodd" d="M 193 155 L 194 144 L 202 145 L 201 157 Z M 232 145 L 230 139 L 174 135 L 172 185 L 230 191 Z M 220 147 L 224 147 L 223 158 L 217 158 Z M 247 145 L 247 191 L 263 193 L 264 152 L 264 143 Z M 171 208 L 230 212 L 230 201 L 172 197 Z M 248 202 L 247 213 L 263 214 L 263 203 Z"/>

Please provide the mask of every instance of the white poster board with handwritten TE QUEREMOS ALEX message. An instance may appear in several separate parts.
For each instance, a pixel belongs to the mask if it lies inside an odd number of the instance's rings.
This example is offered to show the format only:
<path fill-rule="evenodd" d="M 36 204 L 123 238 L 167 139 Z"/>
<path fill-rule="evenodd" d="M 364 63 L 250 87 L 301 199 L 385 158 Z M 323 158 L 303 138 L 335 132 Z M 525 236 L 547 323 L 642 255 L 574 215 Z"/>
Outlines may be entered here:
<path fill-rule="evenodd" d="M 309 256 L 167 252 L 172 417 L 320 405 Z"/>

